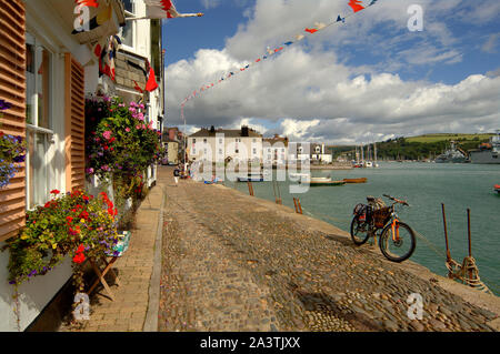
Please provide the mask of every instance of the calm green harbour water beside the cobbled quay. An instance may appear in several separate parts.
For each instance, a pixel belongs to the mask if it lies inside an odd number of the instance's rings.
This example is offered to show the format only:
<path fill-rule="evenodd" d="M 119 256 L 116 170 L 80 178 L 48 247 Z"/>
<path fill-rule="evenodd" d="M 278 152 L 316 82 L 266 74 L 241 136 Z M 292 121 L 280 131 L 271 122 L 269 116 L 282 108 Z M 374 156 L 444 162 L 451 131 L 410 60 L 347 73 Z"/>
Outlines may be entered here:
<path fill-rule="evenodd" d="M 349 231 L 352 210 L 366 203 L 367 195 L 390 194 L 408 201 L 398 208 L 402 221 L 412 226 L 440 251 L 437 254 L 417 237 L 411 260 L 446 276 L 446 245 L 441 203 L 447 212 L 451 256 L 462 263 L 468 255 L 467 209 L 471 210 L 472 255 L 481 280 L 500 295 L 500 196 L 493 185 L 500 183 L 500 165 L 379 162 L 379 169 L 313 170 L 312 176 L 331 175 L 332 180 L 367 178 L 362 184 L 314 186 L 303 194 L 289 193 L 290 181 L 279 182 L 284 205 L 293 208 L 300 199 L 306 214 Z M 248 193 L 247 183 L 226 181 L 227 186 Z M 274 201 L 271 182 L 253 183 L 257 198 Z M 387 199 L 384 199 L 388 202 Z M 383 256 L 380 254 L 380 256 Z"/>

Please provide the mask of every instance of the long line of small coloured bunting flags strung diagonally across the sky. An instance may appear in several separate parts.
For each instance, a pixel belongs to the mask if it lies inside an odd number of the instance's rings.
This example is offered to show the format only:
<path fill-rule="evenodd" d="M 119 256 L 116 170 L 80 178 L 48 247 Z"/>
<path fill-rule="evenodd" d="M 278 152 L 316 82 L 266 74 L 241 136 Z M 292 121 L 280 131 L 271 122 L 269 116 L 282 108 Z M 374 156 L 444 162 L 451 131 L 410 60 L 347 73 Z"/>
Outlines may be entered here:
<path fill-rule="evenodd" d="M 144 0 L 144 1 L 146 1 L 146 2 L 149 2 L 149 1 L 159 1 L 159 0 Z M 337 17 L 337 18 L 333 18 L 333 20 L 332 20 L 330 23 L 314 22 L 314 26 L 313 26 L 313 27 L 310 27 L 310 28 L 307 27 L 307 28 L 303 30 L 304 32 L 308 32 L 308 34 L 304 36 L 303 32 L 302 32 L 302 33 L 298 33 L 298 34 L 294 36 L 296 41 L 291 41 L 291 40 L 290 40 L 290 41 L 284 42 L 283 44 L 287 45 L 287 48 L 289 48 L 289 47 L 291 47 L 293 43 L 297 43 L 297 42 L 303 40 L 307 36 L 313 36 L 314 33 L 317 33 L 317 32 L 319 32 L 319 31 L 322 31 L 322 30 L 327 29 L 328 27 L 330 27 L 330 26 L 332 26 L 332 24 L 336 24 L 336 23 L 339 23 L 339 22 L 346 23 L 346 19 L 348 19 L 350 16 L 353 16 L 354 13 L 357 13 L 357 12 L 359 12 L 359 11 L 361 11 L 361 10 L 364 10 L 364 9 L 367 9 L 367 8 L 369 8 L 369 7 L 373 6 L 373 4 L 376 4 L 378 0 L 344 0 L 344 1 L 348 2 L 346 8 L 347 8 L 347 9 L 350 8 L 350 9 L 352 10 L 352 12 L 351 12 L 350 14 L 346 14 L 346 16 L 343 16 L 343 17 L 342 17 L 341 14 L 338 14 L 338 17 Z M 170 2 L 170 1 L 167 1 L 167 2 Z M 350 10 L 348 10 L 348 11 L 350 11 Z M 262 57 L 260 57 L 260 58 L 253 60 L 252 62 L 250 62 L 250 63 L 247 64 L 246 67 L 240 68 L 240 70 L 237 71 L 237 73 L 240 73 L 240 72 L 242 72 L 242 71 L 246 71 L 247 69 L 250 68 L 250 65 L 254 65 L 256 63 L 260 63 L 260 62 L 262 62 L 263 60 L 268 59 L 269 57 L 271 57 L 271 55 L 273 55 L 273 54 L 276 54 L 276 53 L 282 51 L 283 49 L 284 49 L 284 47 L 279 47 L 279 48 L 276 48 L 276 49 L 271 49 L 270 47 L 267 47 L 267 49 L 266 49 L 266 52 L 267 52 L 267 53 L 266 53 L 264 55 L 262 55 Z M 233 71 L 231 71 L 231 72 L 229 72 L 229 74 L 226 77 L 226 79 L 232 78 L 232 77 L 234 77 L 234 75 L 236 75 L 236 73 L 234 73 Z M 222 78 L 218 81 L 218 83 L 216 83 L 216 84 L 212 83 L 210 87 L 202 87 L 202 88 L 200 89 L 200 91 L 207 91 L 207 90 L 209 90 L 209 89 L 216 87 L 217 84 L 222 83 L 223 80 L 224 80 L 224 77 L 222 77 Z M 197 92 L 194 91 L 192 94 L 190 94 L 189 97 L 187 97 L 187 98 L 184 99 L 184 101 L 183 101 L 182 104 L 181 104 L 181 108 L 183 109 L 184 104 L 186 104 L 189 100 L 191 100 L 191 99 L 193 99 L 193 98 L 196 98 L 196 97 L 200 97 L 200 95 L 201 95 L 201 92 L 198 92 L 198 94 L 197 94 Z"/>

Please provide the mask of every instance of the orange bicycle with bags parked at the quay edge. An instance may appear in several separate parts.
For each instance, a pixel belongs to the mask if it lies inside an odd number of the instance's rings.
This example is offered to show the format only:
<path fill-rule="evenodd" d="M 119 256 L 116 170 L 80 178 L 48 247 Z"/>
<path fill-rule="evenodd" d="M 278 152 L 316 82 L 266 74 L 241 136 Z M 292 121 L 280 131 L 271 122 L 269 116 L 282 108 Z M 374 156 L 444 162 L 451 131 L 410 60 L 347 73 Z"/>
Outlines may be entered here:
<path fill-rule="evenodd" d="M 416 247 L 413 230 L 399 220 L 396 205 L 410 206 L 406 201 L 383 194 L 393 201 L 386 206 L 383 201 L 367 196 L 367 204 L 354 208 L 354 218 L 351 222 L 351 239 L 357 245 L 364 244 L 369 237 L 379 236 L 379 246 L 382 254 L 392 262 L 408 260 Z"/>

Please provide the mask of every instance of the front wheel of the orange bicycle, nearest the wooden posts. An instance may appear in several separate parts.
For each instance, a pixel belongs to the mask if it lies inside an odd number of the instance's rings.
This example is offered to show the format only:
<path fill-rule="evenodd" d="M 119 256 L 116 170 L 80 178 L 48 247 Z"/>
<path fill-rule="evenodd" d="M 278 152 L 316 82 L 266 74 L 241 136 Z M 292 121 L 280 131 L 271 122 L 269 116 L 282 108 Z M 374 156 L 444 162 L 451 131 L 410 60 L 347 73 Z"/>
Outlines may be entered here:
<path fill-rule="evenodd" d="M 402 262 L 408 260 L 414 251 L 416 239 L 413 230 L 406 223 L 397 222 L 392 235 L 392 224 L 388 224 L 380 236 L 380 251 L 392 262 Z"/>

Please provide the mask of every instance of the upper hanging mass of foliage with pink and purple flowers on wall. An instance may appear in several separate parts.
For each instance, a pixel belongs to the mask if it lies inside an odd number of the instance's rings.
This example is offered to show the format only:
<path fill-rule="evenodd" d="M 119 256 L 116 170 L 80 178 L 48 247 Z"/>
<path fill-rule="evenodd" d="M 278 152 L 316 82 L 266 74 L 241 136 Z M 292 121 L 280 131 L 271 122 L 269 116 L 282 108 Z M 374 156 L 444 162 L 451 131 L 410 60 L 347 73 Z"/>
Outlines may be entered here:
<path fill-rule="evenodd" d="M 144 105 L 119 99 L 89 99 L 86 103 L 87 175 L 112 183 L 121 209 L 129 198 L 136 205 L 143 194 L 143 174 L 163 154 L 159 132 L 146 122 Z"/>

